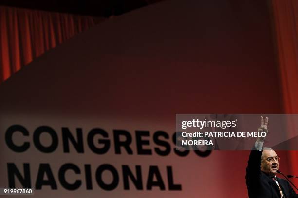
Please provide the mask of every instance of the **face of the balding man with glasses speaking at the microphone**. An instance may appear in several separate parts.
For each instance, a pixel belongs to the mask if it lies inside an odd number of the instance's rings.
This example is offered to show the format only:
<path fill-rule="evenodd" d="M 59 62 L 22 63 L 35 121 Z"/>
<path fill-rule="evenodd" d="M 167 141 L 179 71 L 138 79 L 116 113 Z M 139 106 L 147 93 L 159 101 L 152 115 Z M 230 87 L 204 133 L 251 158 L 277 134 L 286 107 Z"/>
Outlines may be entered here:
<path fill-rule="evenodd" d="M 278 156 L 274 150 L 263 150 L 263 157 L 261 160 L 261 171 L 270 176 L 275 176 L 279 169 Z"/>

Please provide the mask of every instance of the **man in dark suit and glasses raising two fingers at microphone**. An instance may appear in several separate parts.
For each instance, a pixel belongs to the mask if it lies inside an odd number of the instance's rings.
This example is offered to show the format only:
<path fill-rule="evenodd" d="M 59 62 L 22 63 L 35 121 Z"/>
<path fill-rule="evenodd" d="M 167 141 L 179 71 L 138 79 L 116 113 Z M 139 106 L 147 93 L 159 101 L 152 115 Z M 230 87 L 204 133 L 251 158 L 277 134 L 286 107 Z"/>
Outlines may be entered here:
<path fill-rule="evenodd" d="M 261 117 L 259 132 L 268 133 L 268 117 Z M 249 198 L 298 198 L 289 182 L 276 177 L 279 157 L 271 148 L 263 148 L 264 138 L 256 141 L 246 168 L 246 186 Z"/>

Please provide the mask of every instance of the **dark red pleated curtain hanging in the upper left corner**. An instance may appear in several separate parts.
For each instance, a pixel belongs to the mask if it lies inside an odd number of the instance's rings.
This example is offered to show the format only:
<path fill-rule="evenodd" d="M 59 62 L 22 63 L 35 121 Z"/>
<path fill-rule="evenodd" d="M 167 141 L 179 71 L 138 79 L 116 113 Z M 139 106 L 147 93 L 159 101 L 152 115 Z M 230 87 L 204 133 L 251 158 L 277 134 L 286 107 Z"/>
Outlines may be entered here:
<path fill-rule="evenodd" d="M 0 83 L 102 18 L 0 6 Z"/>

